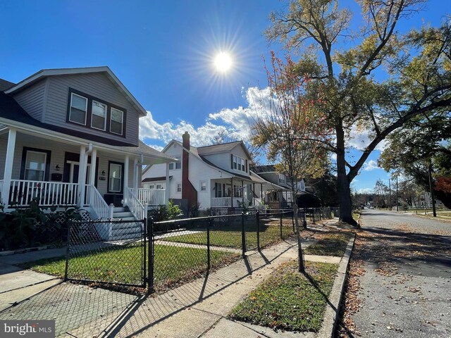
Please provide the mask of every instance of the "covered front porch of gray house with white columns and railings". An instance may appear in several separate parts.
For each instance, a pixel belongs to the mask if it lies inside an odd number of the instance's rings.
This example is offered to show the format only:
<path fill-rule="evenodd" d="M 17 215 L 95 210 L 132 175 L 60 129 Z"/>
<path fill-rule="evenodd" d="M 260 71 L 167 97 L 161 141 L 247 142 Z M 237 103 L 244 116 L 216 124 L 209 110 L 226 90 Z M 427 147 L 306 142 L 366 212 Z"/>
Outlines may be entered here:
<path fill-rule="evenodd" d="M 137 147 L 112 146 L 49 130 L 41 133 L 39 128 L 4 127 L 0 154 L 5 211 L 35 199 L 39 206 L 84 208 L 93 219 L 112 218 L 113 206 L 127 206 L 142 219 L 146 205 L 167 202 L 164 190 L 140 188 L 142 165 L 169 161 L 142 142 Z"/>

